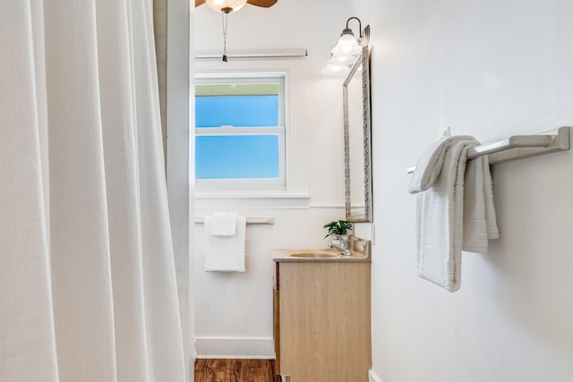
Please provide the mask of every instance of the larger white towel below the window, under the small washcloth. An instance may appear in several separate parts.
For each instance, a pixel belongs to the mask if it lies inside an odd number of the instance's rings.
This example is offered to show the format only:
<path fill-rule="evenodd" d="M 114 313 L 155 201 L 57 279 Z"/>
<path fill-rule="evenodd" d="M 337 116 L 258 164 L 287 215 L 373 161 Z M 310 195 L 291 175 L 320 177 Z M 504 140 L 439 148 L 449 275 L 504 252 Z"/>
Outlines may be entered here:
<path fill-rule="evenodd" d="M 244 272 L 246 222 L 237 216 L 235 236 L 213 236 L 211 216 L 205 216 L 205 271 Z"/>

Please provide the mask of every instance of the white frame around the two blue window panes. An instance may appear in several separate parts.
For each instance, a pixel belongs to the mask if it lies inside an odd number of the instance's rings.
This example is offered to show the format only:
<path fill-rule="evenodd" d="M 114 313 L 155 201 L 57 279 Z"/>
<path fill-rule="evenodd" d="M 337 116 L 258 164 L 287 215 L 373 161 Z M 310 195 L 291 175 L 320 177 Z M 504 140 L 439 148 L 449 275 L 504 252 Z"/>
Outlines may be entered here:
<path fill-rule="evenodd" d="M 197 179 L 197 191 L 286 191 L 286 73 L 252 72 L 213 74 L 199 73 L 195 76 L 195 85 L 228 85 L 249 83 L 278 83 L 278 126 L 233 127 L 213 126 L 195 127 L 195 137 L 201 136 L 244 136 L 278 135 L 278 178 L 242 178 L 242 179 Z"/>

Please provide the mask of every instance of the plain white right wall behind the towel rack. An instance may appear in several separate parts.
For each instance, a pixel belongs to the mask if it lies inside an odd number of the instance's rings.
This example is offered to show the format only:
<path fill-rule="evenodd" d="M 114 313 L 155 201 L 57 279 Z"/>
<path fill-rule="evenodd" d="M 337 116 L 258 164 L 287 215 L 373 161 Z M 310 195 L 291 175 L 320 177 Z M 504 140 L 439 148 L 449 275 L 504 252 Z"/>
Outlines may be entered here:
<path fill-rule="evenodd" d="M 372 378 L 573 378 L 573 152 L 493 167 L 501 237 L 463 254 L 449 293 L 416 276 L 418 155 L 440 132 L 483 142 L 573 125 L 573 2 L 355 0 L 370 23 Z"/>

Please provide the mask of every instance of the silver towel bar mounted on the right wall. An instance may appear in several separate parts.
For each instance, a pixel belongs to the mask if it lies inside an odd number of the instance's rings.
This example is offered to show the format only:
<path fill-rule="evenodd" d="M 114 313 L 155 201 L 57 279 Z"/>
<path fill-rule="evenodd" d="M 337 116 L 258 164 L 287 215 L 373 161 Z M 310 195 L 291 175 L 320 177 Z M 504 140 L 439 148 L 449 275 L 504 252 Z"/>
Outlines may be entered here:
<path fill-rule="evenodd" d="M 514 135 L 507 140 L 486 143 L 467 151 L 467 158 L 490 156 L 490 165 L 524 157 L 535 157 L 561 150 L 569 150 L 569 126 L 563 126 L 549 134 Z M 556 132 L 556 134 L 555 134 Z M 408 174 L 415 171 L 409 167 Z"/>

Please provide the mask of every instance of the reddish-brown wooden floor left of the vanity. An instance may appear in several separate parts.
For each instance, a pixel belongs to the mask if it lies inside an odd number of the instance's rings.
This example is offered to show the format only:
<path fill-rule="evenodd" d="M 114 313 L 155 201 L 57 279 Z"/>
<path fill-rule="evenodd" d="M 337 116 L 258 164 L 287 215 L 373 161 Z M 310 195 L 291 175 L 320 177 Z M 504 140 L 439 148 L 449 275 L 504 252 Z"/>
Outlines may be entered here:
<path fill-rule="evenodd" d="M 195 382 L 280 382 L 274 360 L 197 360 Z"/>

